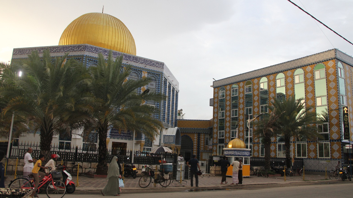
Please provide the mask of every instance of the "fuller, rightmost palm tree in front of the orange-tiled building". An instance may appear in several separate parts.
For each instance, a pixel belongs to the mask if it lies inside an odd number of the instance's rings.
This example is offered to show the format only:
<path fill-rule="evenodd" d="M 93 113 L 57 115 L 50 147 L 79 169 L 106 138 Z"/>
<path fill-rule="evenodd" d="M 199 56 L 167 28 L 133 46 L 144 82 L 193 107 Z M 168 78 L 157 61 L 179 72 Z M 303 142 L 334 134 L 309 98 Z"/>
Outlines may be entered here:
<path fill-rule="evenodd" d="M 291 167 L 291 140 L 292 138 L 309 138 L 316 140 L 321 137 L 318 133 L 317 114 L 313 107 L 304 106 L 303 98 L 295 100 L 294 96 L 289 96 L 284 100 L 275 99 L 273 108 L 276 115 L 281 115 L 277 119 L 277 133 L 284 139 L 286 147 L 286 165 Z"/>

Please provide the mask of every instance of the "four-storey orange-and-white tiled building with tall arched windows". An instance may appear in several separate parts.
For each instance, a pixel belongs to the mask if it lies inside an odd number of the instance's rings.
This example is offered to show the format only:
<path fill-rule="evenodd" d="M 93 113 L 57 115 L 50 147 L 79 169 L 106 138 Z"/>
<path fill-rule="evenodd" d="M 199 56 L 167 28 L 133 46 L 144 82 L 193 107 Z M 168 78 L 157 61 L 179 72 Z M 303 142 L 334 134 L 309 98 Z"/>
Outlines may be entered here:
<path fill-rule="evenodd" d="M 213 154 L 222 154 L 230 140 L 243 140 L 252 156 L 263 156 L 259 138 L 252 135 L 252 122 L 273 98 L 294 96 L 305 98 L 313 111 L 328 111 L 328 119 L 319 125 L 320 140 L 292 141 L 293 157 L 304 158 L 308 170 L 333 167 L 338 160 L 347 163 L 349 150 L 342 143 L 342 106 L 352 106 L 353 58 L 332 49 L 274 66 L 214 81 L 213 98 Z M 350 138 L 353 134 L 353 113 L 349 113 Z M 285 146 L 280 137 L 271 140 L 271 157 L 284 157 Z"/>

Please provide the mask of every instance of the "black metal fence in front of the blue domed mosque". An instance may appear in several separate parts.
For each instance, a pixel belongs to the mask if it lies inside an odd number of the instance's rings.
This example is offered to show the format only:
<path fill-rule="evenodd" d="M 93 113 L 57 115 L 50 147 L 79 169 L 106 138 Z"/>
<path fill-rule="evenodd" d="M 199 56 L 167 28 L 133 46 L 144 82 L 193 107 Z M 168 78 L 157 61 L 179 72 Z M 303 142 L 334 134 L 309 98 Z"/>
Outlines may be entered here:
<path fill-rule="evenodd" d="M 27 148 L 31 147 L 32 157 L 38 159 L 40 155 L 40 145 L 38 143 L 17 143 L 11 145 L 10 147 L 10 158 L 23 158 L 27 152 Z M 6 153 L 5 147 L 0 147 L 1 150 L 4 150 Z M 71 147 L 71 148 L 59 148 L 59 145 L 52 145 L 50 148 L 51 153 L 56 153 L 60 155 L 60 159 L 63 161 L 71 162 L 98 162 L 98 151 L 91 149 L 83 149 L 81 147 Z M 122 151 L 118 149 L 108 149 L 106 161 L 110 162 L 114 156 L 118 156 L 119 161 L 125 163 L 132 162 L 132 155 L 134 155 L 134 163 L 136 164 L 148 164 L 148 165 L 157 165 L 160 164 L 160 160 L 163 159 L 166 163 L 176 163 L 177 154 L 174 153 L 157 153 L 150 155 L 146 152 L 140 151 Z"/>

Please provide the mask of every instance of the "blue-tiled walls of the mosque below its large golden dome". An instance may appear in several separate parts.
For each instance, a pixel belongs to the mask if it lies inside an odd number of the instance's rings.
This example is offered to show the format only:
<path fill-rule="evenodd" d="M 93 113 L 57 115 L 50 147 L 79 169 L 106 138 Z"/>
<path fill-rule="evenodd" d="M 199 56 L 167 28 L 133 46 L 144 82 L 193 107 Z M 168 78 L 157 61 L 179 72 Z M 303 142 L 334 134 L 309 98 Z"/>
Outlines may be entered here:
<path fill-rule="evenodd" d="M 89 44 L 76 44 L 76 45 L 59 45 L 59 46 L 49 46 L 49 47 L 33 47 L 33 48 L 16 48 L 13 49 L 12 61 L 16 61 L 22 58 L 28 58 L 28 55 L 36 50 L 40 54 L 43 50 L 48 49 L 50 55 L 63 56 L 66 52 L 69 53 L 68 58 L 74 58 L 79 62 L 82 62 L 87 67 L 97 64 L 98 53 L 103 54 L 105 57 L 109 54 L 109 49 L 96 47 Z M 174 77 L 172 72 L 168 69 L 166 64 L 159 61 L 150 60 L 148 58 L 143 58 L 131 54 L 125 54 L 119 51 L 112 51 L 113 57 L 123 56 L 123 66 L 131 65 L 132 73 L 129 78 L 140 79 L 143 77 L 149 77 L 152 82 L 148 86 L 141 87 L 137 90 L 138 94 L 145 91 L 147 88 L 153 92 L 161 92 L 167 95 L 167 100 L 161 103 L 155 103 L 154 101 L 147 101 L 150 105 L 155 105 L 160 108 L 161 113 L 154 115 L 156 119 L 159 119 L 163 123 L 164 129 L 161 131 L 163 134 L 170 128 L 175 128 L 177 125 L 177 111 L 178 111 L 178 95 L 179 95 L 179 82 Z M 175 134 L 174 134 L 175 136 Z M 98 143 L 97 134 L 92 133 L 90 136 L 91 142 Z M 167 137 L 167 136 L 166 136 Z M 39 142 L 39 138 L 33 135 L 26 135 L 24 137 L 19 137 L 19 141 L 24 139 L 30 142 Z M 175 139 L 175 138 L 174 138 Z M 108 148 L 119 147 L 122 149 L 131 150 L 132 149 L 132 132 L 121 132 L 118 130 L 110 130 L 108 134 Z M 150 151 L 152 147 L 156 147 L 161 143 L 165 142 L 163 140 L 163 135 L 157 137 L 155 141 L 151 141 L 148 138 L 144 138 L 143 135 L 137 134 L 135 137 L 135 150 L 146 150 Z M 53 143 L 61 145 L 63 148 L 70 148 L 70 146 L 79 145 L 85 148 L 88 143 L 82 142 L 82 137 L 78 135 L 73 135 L 72 137 L 55 137 L 53 138 Z M 175 144 L 175 142 L 171 142 Z M 177 141 L 176 144 L 179 144 Z"/>

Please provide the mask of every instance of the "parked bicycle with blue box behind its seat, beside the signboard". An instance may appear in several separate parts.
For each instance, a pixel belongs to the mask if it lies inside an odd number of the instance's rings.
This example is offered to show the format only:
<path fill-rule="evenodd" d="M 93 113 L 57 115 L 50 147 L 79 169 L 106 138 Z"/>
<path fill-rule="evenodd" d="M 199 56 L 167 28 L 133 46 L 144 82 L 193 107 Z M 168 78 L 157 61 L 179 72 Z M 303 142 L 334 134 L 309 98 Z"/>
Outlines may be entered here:
<path fill-rule="evenodd" d="M 146 188 L 151 184 L 152 177 L 154 176 L 154 172 L 152 171 L 151 168 L 148 166 L 142 168 L 142 177 L 138 180 L 138 185 L 141 188 Z M 157 178 L 152 181 L 152 183 L 155 184 L 160 184 L 162 187 L 167 187 L 170 185 L 170 182 L 172 179 L 170 179 L 169 173 L 163 173 L 163 170 L 159 170 L 159 173 L 157 175 Z"/>

